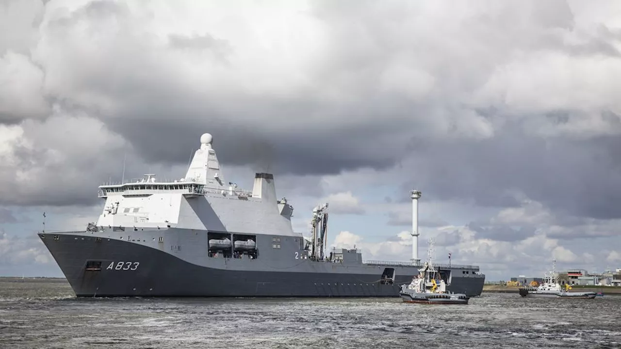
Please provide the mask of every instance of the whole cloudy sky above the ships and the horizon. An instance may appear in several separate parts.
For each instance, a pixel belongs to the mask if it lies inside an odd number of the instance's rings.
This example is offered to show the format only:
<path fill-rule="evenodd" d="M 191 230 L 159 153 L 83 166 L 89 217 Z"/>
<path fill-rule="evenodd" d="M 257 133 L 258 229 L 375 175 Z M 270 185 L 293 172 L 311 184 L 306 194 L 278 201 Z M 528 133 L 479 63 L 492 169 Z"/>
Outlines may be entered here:
<path fill-rule="evenodd" d="M 419 189 L 422 256 L 614 270 L 620 50 L 618 1 L 4 0 L 0 275 L 63 276 L 43 212 L 84 229 L 97 186 L 181 178 L 205 132 L 365 260 L 411 258 Z"/>

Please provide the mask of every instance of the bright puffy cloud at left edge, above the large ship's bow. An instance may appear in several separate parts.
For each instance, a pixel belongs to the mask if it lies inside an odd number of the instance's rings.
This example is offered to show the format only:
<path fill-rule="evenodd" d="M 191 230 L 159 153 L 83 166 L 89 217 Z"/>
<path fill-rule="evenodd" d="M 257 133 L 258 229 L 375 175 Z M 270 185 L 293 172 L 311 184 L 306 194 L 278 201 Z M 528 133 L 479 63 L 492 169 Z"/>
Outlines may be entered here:
<path fill-rule="evenodd" d="M 4 202 L 93 202 L 102 173 L 114 173 L 120 179 L 116 174 L 127 145 L 97 119 L 59 111 L 43 122 L 27 120 L 0 130 L 9 138 L 9 147 L 0 149 L 5 160 L 0 163 Z M 99 171 L 98 178 L 92 177 L 93 171 Z"/>

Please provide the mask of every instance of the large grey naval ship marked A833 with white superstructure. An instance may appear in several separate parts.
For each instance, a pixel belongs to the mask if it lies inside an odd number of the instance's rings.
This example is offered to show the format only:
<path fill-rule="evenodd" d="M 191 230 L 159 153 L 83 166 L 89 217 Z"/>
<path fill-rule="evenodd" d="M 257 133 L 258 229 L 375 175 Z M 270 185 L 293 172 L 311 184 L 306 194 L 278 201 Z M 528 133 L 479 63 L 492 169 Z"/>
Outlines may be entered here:
<path fill-rule="evenodd" d="M 225 181 L 211 134 L 184 178 L 155 174 L 99 186 L 101 215 L 83 231 L 41 232 L 78 297 L 399 297 L 422 266 L 412 191 L 412 261 L 363 261 L 356 248 L 327 253 L 329 204 L 312 211 L 311 237 L 292 229 L 293 207 L 274 176 L 252 191 Z M 311 215 L 311 212 L 309 212 Z M 479 296 L 478 266 L 436 265 L 446 289 Z"/>

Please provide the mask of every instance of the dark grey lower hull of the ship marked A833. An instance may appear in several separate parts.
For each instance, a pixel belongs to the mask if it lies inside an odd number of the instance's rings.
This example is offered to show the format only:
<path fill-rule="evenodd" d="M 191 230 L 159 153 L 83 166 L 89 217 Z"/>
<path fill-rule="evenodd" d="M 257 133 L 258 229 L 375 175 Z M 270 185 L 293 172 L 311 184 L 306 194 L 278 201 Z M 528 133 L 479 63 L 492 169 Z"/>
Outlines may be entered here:
<path fill-rule="evenodd" d="M 380 282 L 384 266 L 377 264 L 300 260 L 294 266 L 271 263 L 270 270 L 240 267 L 261 257 L 220 258 L 215 268 L 161 247 L 91 234 L 39 234 L 78 297 L 398 297 L 401 285 L 417 273 L 416 266 L 392 266 L 396 275 L 386 284 Z M 484 276 L 478 276 L 453 277 L 448 291 L 479 296 Z"/>

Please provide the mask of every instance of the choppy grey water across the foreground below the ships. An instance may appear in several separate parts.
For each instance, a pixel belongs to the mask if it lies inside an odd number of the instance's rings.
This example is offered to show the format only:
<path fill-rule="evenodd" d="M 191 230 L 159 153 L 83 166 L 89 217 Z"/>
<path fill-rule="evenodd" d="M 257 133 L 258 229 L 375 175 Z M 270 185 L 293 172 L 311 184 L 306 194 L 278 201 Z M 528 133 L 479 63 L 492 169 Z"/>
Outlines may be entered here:
<path fill-rule="evenodd" d="M 621 348 L 621 296 L 468 306 L 400 299 L 76 299 L 0 279 L 0 348 Z"/>

